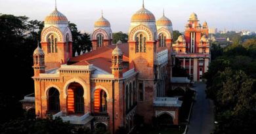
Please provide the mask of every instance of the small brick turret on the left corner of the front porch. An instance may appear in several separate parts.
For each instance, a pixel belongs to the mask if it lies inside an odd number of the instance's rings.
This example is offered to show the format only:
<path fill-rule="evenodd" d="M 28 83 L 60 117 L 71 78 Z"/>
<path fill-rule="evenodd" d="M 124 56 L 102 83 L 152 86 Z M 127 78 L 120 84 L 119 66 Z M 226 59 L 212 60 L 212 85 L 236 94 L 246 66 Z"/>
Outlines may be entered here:
<path fill-rule="evenodd" d="M 40 73 L 45 73 L 45 54 L 37 43 L 37 48 L 33 52 L 33 71 L 34 76 L 39 76 Z"/>

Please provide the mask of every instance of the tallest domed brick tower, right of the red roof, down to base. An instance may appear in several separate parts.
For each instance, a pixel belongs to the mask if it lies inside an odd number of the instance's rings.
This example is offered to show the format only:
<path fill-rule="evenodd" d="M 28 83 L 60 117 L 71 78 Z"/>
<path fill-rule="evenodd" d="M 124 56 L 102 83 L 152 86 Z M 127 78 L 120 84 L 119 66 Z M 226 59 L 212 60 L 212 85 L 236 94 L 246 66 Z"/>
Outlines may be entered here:
<path fill-rule="evenodd" d="M 146 123 L 152 121 L 152 109 L 156 96 L 154 82 L 156 74 L 157 55 L 156 18 L 152 12 L 144 7 L 135 12 L 131 18 L 129 28 L 129 67 L 135 67 L 138 74 L 138 114 L 144 116 Z M 147 111 L 146 113 L 144 111 Z"/>

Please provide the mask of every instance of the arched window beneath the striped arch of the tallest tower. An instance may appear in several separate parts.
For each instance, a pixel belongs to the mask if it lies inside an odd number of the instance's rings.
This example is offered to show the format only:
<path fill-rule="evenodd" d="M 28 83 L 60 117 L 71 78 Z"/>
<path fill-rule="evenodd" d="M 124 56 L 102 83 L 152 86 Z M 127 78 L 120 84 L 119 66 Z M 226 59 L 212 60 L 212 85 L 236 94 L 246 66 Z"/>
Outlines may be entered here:
<path fill-rule="evenodd" d="M 142 33 L 136 37 L 136 52 L 146 52 L 146 36 Z"/>

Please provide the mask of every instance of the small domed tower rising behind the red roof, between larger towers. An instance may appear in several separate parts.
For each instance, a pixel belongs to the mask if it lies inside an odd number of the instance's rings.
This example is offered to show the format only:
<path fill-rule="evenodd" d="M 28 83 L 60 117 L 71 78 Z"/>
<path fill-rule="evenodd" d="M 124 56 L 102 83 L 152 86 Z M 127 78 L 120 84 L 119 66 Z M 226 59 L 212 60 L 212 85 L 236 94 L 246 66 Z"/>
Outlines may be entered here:
<path fill-rule="evenodd" d="M 103 17 L 102 13 L 101 17 L 95 22 L 95 29 L 93 31 L 93 50 L 110 44 L 112 44 L 110 22 Z"/>

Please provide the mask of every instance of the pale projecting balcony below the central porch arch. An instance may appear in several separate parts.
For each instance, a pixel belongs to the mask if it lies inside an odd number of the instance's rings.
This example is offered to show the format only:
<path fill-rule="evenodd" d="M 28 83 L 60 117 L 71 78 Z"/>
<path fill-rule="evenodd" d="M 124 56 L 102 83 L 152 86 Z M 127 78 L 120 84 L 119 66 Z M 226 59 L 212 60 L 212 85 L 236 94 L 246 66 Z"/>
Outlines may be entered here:
<path fill-rule="evenodd" d="M 91 122 L 91 120 L 93 120 L 93 116 L 90 116 L 88 112 L 86 114 L 79 116 L 77 114 L 65 115 L 62 111 L 60 111 L 53 115 L 53 119 L 57 117 L 60 117 L 63 120 L 63 122 L 70 122 L 70 124 L 77 125 L 85 125 L 88 122 Z"/>

